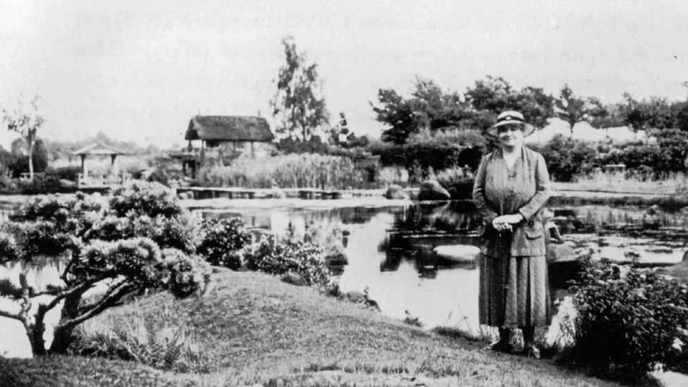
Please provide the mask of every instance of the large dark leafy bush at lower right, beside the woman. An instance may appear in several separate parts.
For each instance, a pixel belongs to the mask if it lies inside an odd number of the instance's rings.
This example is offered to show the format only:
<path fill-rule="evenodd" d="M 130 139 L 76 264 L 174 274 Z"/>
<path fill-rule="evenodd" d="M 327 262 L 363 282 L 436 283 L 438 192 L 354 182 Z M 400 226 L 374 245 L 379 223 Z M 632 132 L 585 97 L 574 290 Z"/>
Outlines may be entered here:
<path fill-rule="evenodd" d="M 571 290 L 578 312 L 568 352 L 594 374 L 637 378 L 688 350 L 688 287 L 676 279 L 640 269 L 622 276 L 600 262 Z"/>

